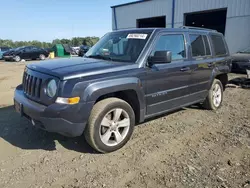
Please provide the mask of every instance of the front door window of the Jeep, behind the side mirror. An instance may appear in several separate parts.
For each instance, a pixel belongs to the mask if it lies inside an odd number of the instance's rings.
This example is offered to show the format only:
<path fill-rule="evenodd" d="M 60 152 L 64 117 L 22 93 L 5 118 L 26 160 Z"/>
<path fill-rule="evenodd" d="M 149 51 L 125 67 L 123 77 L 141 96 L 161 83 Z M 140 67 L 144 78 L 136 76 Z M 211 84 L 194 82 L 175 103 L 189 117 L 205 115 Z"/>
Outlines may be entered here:
<path fill-rule="evenodd" d="M 185 58 L 186 50 L 184 36 L 182 34 L 169 34 L 161 36 L 157 41 L 151 56 L 153 56 L 156 51 L 171 51 L 173 60 Z"/>

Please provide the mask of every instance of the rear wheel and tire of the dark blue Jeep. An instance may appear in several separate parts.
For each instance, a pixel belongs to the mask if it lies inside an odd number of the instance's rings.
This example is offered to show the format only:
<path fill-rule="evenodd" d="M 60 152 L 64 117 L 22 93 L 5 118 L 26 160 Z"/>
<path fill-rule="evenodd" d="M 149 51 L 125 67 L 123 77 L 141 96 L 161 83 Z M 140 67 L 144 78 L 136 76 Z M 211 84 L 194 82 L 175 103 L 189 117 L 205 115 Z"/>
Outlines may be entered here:
<path fill-rule="evenodd" d="M 223 86 L 220 80 L 214 79 L 211 88 L 209 89 L 208 96 L 203 102 L 202 106 L 207 110 L 216 111 L 222 105 L 223 101 Z"/>

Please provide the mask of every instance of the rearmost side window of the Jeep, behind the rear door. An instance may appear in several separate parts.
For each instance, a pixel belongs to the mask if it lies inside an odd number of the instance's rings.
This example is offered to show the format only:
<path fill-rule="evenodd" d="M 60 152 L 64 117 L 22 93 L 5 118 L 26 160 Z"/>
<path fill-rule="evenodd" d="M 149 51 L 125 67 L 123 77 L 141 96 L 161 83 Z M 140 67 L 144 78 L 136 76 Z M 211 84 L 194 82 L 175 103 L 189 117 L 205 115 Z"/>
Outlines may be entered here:
<path fill-rule="evenodd" d="M 214 46 L 214 51 L 216 56 L 226 55 L 227 50 L 222 36 L 211 35 L 212 43 Z"/>

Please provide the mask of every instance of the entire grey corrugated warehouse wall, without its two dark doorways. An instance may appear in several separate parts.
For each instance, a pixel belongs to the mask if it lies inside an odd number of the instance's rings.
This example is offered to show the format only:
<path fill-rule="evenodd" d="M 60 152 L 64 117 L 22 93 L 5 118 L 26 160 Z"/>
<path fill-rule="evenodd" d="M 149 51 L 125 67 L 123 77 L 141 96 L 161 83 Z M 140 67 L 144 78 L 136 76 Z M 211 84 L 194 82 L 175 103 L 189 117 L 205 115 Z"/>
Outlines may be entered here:
<path fill-rule="evenodd" d="M 250 46 L 250 0 L 176 0 L 175 27 L 184 24 L 184 14 L 227 8 L 225 38 L 231 53 Z M 171 27 L 172 0 L 151 0 L 116 7 L 117 29 L 136 28 L 136 20 L 166 16 L 166 27 Z M 114 14 L 112 16 L 115 29 Z"/>

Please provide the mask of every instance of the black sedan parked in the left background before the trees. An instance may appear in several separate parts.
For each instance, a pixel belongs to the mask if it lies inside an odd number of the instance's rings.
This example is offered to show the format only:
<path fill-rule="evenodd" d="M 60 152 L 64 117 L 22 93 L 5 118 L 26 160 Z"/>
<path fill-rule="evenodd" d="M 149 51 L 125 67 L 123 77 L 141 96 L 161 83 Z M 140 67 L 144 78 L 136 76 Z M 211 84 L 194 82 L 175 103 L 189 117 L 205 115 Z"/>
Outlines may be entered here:
<path fill-rule="evenodd" d="M 49 52 L 35 46 L 24 46 L 19 47 L 14 50 L 10 50 L 8 52 L 5 52 L 3 54 L 3 58 L 6 61 L 21 61 L 22 59 L 28 60 L 28 59 L 40 59 L 45 60 L 46 57 L 48 57 Z"/>

